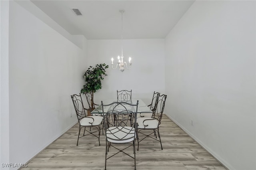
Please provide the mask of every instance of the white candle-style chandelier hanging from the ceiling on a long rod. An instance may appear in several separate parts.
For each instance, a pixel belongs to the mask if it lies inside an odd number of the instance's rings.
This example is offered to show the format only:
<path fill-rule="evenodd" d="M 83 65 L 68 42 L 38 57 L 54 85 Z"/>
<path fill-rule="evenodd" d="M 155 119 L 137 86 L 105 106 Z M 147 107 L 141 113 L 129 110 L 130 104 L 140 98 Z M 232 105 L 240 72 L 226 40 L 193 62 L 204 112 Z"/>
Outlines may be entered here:
<path fill-rule="evenodd" d="M 124 56 L 123 56 L 123 13 L 124 10 L 119 10 L 119 12 L 122 13 L 122 42 L 121 42 L 121 48 L 122 48 L 122 52 L 121 52 L 121 57 L 118 55 L 117 59 L 118 59 L 118 63 L 116 63 L 116 67 L 114 68 L 114 59 L 112 57 L 112 69 L 116 69 L 117 67 L 120 69 L 120 71 L 124 71 L 124 67 L 126 67 L 128 70 L 131 68 L 131 57 L 129 57 L 129 64 L 127 65 L 126 61 L 123 60 Z M 121 59 L 120 59 L 121 58 Z"/>

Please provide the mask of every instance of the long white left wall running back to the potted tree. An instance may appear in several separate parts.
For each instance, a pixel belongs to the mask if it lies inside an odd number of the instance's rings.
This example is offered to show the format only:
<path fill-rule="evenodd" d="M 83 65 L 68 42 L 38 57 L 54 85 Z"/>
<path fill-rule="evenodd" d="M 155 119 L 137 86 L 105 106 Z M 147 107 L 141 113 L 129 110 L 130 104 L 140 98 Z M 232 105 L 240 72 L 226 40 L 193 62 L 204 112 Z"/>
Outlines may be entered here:
<path fill-rule="evenodd" d="M 12 1 L 9 47 L 10 162 L 25 163 L 77 122 L 86 51 Z"/>

